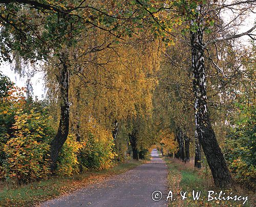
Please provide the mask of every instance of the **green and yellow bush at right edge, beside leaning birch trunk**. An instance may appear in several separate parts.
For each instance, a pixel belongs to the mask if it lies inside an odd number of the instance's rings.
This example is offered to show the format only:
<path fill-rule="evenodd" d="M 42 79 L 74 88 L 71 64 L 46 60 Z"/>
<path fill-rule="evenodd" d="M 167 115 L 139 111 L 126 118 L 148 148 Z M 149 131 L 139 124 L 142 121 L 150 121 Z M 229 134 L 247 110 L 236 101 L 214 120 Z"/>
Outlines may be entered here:
<path fill-rule="evenodd" d="M 224 155 L 229 169 L 238 182 L 255 188 L 256 178 L 256 107 L 254 104 L 236 104 L 238 118 L 227 135 Z"/>

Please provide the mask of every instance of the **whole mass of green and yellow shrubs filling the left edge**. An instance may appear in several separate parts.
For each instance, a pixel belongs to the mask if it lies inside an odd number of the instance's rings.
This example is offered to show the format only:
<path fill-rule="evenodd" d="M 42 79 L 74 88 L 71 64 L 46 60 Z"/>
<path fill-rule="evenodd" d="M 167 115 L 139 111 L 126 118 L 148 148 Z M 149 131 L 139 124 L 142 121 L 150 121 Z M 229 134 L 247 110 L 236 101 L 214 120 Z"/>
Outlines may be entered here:
<path fill-rule="evenodd" d="M 23 88 L 10 87 L 0 103 L 0 173 L 13 183 L 25 183 L 47 176 L 55 130 L 42 102 L 28 101 Z"/>

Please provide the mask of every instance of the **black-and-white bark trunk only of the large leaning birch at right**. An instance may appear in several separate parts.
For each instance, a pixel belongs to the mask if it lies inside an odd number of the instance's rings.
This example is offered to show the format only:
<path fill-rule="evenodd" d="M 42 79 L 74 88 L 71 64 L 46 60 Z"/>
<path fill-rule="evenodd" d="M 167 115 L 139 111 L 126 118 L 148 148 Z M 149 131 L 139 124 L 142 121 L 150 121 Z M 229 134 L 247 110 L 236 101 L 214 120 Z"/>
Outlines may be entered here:
<path fill-rule="evenodd" d="M 194 20 L 194 24 L 198 24 L 199 29 L 195 32 L 190 32 L 196 130 L 215 185 L 217 187 L 225 187 L 231 182 L 231 176 L 208 115 L 204 65 L 205 45 L 203 42 L 203 30 L 200 29 L 201 25 L 198 21 L 200 22 L 200 19 Z"/>

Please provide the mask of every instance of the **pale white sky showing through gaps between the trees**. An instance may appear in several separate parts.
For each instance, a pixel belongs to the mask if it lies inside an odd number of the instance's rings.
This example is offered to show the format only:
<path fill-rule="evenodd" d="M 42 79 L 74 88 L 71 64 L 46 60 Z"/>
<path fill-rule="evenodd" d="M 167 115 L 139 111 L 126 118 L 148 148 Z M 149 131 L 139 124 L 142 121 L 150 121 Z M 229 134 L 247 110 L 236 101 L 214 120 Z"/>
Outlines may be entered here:
<path fill-rule="evenodd" d="M 225 15 L 227 17 L 226 20 L 228 20 L 230 18 L 230 15 L 228 13 Z M 254 13 L 246 19 L 245 24 L 241 26 L 239 33 L 249 30 L 254 25 L 255 21 L 256 21 L 256 14 Z M 245 44 L 248 44 L 248 40 L 249 40 L 248 36 L 242 37 L 242 41 Z M 26 86 L 27 77 L 19 77 L 18 74 L 15 74 L 14 71 L 11 70 L 11 65 L 9 63 L 0 64 L 0 71 L 4 75 L 8 76 L 11 79 L 11 81 L 13 81 L 18 87 Z M 37 72 L 34 75 L 34 77 L 31 78 L 31 83 L 33 87 L 33 97 L 37 97 L 38 99 L 42 99 L 46 94 L 46 88 L 44 87 L 44 80 L 42 80 L 43 76 L 44 76 L 43 72 Z"/>

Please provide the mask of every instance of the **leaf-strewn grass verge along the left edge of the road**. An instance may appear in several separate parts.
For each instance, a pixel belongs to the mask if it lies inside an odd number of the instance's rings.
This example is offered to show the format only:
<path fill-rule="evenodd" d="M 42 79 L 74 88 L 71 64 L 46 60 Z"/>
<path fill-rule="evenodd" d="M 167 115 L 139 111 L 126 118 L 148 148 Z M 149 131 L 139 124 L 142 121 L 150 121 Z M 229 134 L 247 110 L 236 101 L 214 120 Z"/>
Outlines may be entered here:
<path fill-rule="evenodd" d="M 129 163 L 118 164 L 113 168 L 102 171 L 88 171 L 71 177 L 54 176 L 16 188 L 8 186 L 6 183 L 1 183 L 3 187 L 0 189 L 0 206 L 31 207 L 46 200 L 86 187 L 95 182 L 109 179 L 113 175 L 123 173 L 142 163 L 141 161 L 131 161 Z"/>

